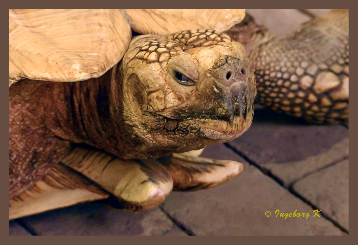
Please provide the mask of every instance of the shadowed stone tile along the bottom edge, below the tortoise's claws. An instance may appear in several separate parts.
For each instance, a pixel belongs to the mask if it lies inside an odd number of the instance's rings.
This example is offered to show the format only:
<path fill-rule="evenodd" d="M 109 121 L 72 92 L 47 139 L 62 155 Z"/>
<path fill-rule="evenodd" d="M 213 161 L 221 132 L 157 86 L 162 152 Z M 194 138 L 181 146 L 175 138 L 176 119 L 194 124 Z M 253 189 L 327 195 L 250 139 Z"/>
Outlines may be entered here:
<path fill-rule="evenodd" d="M 39 235 L 187 235 L 159 208 L 124 212 L 101 202 L 21 219 Z"/>

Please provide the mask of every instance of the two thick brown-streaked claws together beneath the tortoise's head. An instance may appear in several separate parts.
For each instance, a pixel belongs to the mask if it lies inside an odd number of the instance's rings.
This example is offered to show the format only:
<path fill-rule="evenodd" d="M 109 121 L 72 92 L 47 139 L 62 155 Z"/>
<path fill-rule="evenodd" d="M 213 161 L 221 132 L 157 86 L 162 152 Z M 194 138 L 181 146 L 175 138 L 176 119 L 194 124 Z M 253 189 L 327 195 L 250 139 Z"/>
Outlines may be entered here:
<path fill-rule="evenodd" d="M 240 162 L 173 154 L 158 160 L 123 160 L 98 150 L 75 148 L 62 163 L 114 195 L 122 209 L 158 206 L 172 190 L 209 188 L 237 176 Z"/>

